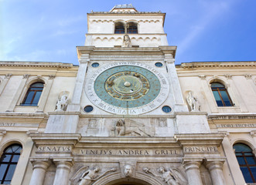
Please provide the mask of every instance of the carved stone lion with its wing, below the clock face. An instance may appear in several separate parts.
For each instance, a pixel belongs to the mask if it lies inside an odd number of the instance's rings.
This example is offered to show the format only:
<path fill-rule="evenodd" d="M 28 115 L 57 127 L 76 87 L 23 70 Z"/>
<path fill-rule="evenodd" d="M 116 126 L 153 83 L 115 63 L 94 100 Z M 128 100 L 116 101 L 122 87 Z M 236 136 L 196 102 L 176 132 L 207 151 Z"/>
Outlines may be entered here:
<path fill-rule="evenodd" d="M 142 130 L 134 121 L 128 120 L 129 124 L 125 124 L 124 119 L 118 119 L 115 123 L 115 131 L 116 136 L 151 136 L 150 134 L 146 133 Z M 144 125 L 142 125 L 144 127 Z"/>

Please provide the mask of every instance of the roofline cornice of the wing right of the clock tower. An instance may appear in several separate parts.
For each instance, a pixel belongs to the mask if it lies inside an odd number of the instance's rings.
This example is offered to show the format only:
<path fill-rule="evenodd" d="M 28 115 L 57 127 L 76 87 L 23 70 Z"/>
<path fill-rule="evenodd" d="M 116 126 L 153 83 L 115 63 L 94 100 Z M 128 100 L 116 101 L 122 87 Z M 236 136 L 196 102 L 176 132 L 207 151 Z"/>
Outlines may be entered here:
<path fill-rule="evenodd" d="M 230 68 L 230 67 L 256 67 L 255 61 L 236 61 L 236 62 L 188 62 L 180 65 L 183 69 L 195 68 Z"/>

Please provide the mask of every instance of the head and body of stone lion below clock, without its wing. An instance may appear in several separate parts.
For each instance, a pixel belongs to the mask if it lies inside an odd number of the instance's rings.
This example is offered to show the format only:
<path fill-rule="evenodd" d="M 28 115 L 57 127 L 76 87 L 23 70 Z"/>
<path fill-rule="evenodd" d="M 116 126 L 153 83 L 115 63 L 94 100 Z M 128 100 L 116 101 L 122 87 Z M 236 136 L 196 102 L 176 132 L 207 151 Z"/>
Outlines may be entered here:
<path fill-rule="evenodd" d="M 137 135 L 137 136 L 150 136 L 144 131 L 140 130 L 138 127 L 135 126 L 125 126 L 125 120 L 123 119 L 118 119 L 116 125 L 115 125 L 115 130 L 118 133 L 118 136 L 125 136 L 128 134 L 131 135 Z"/>

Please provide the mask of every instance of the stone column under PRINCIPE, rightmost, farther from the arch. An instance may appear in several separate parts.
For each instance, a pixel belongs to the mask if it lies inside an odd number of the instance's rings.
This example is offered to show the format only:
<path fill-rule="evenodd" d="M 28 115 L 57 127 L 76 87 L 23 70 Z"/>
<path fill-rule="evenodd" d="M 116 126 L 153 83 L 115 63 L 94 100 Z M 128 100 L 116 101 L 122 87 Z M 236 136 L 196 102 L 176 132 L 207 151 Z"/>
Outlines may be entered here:
<path fill-rule="evenodd" d="M 207 161 L 206 167 L 210 171 L 210 177 L 212 179 L 213 185 L 224 185 L 224 175 L 223 175 L 223 163 L 222 161 Z"/>

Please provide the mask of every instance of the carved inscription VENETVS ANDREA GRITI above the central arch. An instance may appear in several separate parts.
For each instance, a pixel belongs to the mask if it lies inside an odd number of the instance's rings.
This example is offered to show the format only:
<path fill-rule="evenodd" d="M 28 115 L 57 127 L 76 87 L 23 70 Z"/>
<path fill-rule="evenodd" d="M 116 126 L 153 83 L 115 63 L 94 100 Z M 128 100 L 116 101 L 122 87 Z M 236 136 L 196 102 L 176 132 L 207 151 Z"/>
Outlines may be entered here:
<path fill-rule="evenodd" d="M 181 155 L 181 150 L 74 150 L 74 153 L 86 156 L 176 156 Z"/>

